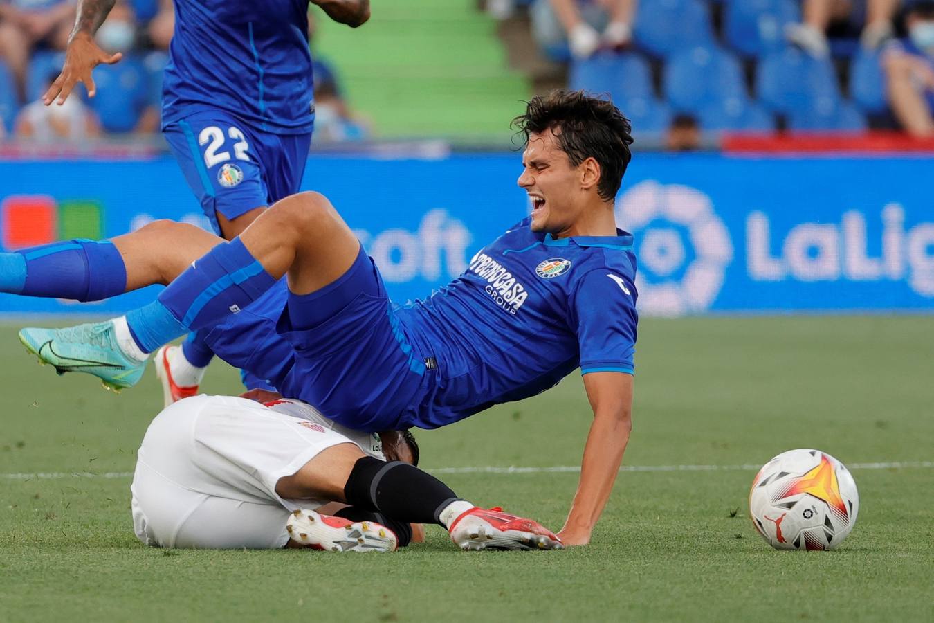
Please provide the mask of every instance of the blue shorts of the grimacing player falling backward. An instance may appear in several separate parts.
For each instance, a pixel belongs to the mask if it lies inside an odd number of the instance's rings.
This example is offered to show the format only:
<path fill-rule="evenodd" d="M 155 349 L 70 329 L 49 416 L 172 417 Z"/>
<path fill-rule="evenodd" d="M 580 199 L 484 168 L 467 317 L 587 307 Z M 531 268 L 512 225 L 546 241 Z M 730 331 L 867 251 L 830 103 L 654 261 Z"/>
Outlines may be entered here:
<path fill-rule="evenodd" d="M 305 295 L 289 292 L 276 331 L 294 350 L 279 391 L 347 427 L 397 428 L 430 383 L 363 248 L 332 284 Z"/>

